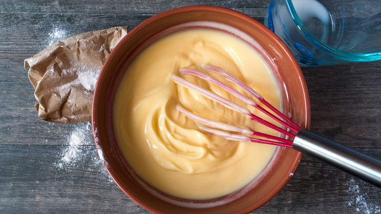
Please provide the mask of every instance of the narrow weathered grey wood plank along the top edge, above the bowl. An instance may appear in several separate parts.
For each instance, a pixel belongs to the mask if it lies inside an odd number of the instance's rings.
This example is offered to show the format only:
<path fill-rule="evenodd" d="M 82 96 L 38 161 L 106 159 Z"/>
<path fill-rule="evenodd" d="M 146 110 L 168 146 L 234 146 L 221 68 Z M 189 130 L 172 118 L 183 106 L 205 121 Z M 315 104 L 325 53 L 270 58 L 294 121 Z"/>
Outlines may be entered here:
<path fill-rule="evenodd" d="M 213 5 L 230 8 L 251 17 L 264 17 L 270 1 L 263 0 L 6 0 L 0 5 L 2 13 L 109 14 L 155 15 L 189 5 Z"/>

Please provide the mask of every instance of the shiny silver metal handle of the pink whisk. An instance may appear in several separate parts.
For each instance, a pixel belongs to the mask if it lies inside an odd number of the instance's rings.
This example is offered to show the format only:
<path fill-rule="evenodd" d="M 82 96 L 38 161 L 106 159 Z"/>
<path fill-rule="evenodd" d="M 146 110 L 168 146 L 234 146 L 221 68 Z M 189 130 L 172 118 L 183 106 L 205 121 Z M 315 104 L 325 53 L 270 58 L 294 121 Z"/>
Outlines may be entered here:
<path fill-rule="evenodd" d="M 293 149 L 314 156 L 381 188 L 381 161 L 376 158 L 306 129 L 301 129 L 297 133 Z"/>

